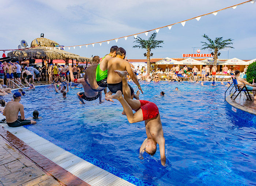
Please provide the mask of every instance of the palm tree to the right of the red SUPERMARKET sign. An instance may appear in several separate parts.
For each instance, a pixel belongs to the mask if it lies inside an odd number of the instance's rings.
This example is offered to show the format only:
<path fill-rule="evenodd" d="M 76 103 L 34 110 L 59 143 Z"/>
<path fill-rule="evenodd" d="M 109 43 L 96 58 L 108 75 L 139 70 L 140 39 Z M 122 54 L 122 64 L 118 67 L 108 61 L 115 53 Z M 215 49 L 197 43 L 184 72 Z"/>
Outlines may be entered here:
<path fill-rule="evenodd" d="M 233 39 L 226 39 L 226 40 L 222 40 L 223 37 L 220 37 L 220 38 L 215 38 L 215 40 L 213 41 L 212 39 L 210 39 L 208 37 L 208 35 L 202 35 L 204 38 L 206 38 L 206 40 L 209 42 L 209 43 L 206 43 L 206 42 L 202 42 L 201 43 L 204 43 L 202 46 L 204 46 L 204 48 L 202 48 L 201 50 L 204 50 L 204 49 L 212 49 L 214 51 L 214 55 L 213 55 L 213 60 L 214 60 L 214 65 L 217 64 L 217 60 L 218 60 L 218 51 L 227 47 L 227 48 L 234 48 L 232 46 L 228 46 L 228 45 L 233 45 L 232 41 Z"/>

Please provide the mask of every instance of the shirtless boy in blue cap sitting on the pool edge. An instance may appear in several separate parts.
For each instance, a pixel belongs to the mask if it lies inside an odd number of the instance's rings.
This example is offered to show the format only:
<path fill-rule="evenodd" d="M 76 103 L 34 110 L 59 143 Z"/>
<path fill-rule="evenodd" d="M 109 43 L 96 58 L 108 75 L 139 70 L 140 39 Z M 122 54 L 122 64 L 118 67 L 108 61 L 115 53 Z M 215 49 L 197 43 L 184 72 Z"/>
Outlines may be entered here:
<path fill-rule="evenodd" d="M 3 115 L 6 117 L 7 125 L 10 127 L 18 127 L 23 125 L 36 124 L 35 121 L 25 119 L 24 106 L 19 103 L 21 94 L 15 92 L 13 95 L 14 100 L 7 103 L 4 107 Z M 20 115 L 18 116 L 18 114 Z"/>

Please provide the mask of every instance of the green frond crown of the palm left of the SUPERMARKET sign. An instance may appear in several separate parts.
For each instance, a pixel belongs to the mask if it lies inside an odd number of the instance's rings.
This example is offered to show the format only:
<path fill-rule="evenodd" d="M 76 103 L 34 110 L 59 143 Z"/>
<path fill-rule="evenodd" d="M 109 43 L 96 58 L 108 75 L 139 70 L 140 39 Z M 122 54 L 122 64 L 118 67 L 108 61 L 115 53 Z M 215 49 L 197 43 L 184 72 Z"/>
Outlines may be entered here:
<path fill-rule="evenodd" d="M 163 41 L 155 40 L 156 37 L 157 37 L 156 32 L 151 34 L 148 40 L 142 39 L 137 36 L 136 40 L 133 42 L 138 43 L 138 45 L 134 45 L 132 46 L 132 48 L 142 48 L 142 49 L 146 49 L 147 51 L 151 51 L 151 49 L 162 47 L 160 46 L 160 44 L 163 43 Z"/>

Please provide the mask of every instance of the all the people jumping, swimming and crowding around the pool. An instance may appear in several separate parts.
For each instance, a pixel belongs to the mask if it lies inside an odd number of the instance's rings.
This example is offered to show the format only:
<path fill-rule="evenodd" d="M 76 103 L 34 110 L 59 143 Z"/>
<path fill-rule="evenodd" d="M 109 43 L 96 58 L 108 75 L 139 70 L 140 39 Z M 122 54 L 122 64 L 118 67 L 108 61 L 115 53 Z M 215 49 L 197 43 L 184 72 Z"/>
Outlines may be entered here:
<path fill-rule="evenodd" d="M 160 79 L 159 72 L 162 72 L 162 69 L 157 69 L 157 71 L 147 73 L 145 67 L 139 68 L 138 66 L 135 68 L 125 59 L 125 56 L 125 49 L 112 46 L 109 54 L 104 56 L 101 60 L 99 56 L 94 56 L 91 65 L 85 69 L 82 67 L 78 68 L 75 65 L 58 66 L 58 64 L 50 64 L 47 71 L 49 81 L 50 83 L 53 83 L 55 92 L 57 94 L 61 93 L 64 99 L 67 98 L 69 86 L 71 89 L 83 88 L 83 91 L 76 93 L 79 103 L 82 105 L 86 104 L 86 102 L 97 100 L 98 98 L 99 103 L 103 103 L 103 92 L 105 94 L 105 100 L 113 102 L 113 99 L 117 99 L 123 107 L 122 114 L 127 116 L 128 122 L 135 123 L 145 121 L 147 138 L 143 141 L 140 147 L 139 157 L 142 159 L 144 152 L 154 155 L 157 150 L 157 144 L 159 144 L 161 164 L 165 166 L 165 138 L 163 137 L 163 129 L 158 107 L 153 102 L 139 99 L 140 92 L 143 94 L 139 81 L 149 82 L 152 80 L 151 77 L 153 76 L 153 81 L 158 82 Z M 35 90 L 33 84 L 34 80 L 39 82 L 41 79 L 44 79 L 44 76 L 46 75 L 44 67 L 36 69 L 30 65 L 27 65 L 22 70 L 18 61 L 16 61 L 14 64 L 11 62 L 8 64 L 5 63 L 2 65 L 2 69 L 4 75 L 3 78 L 0 79 L 0 84 L 3 84 L 3 79 L 5 76 L 7 79 L 7 84 L 8 80 L 14 79 L 13 73 L 15 69 L 15 78 L 17 78 L 16 80 L 18 82 L 20 82 L 20 78 L 23 79 L 23 75 L 26 74 L 25 82 L 26 85 L 29 86 L 29 88 L 26 90 Z M 189 70 L 186 66 L 183 69 L 180 69 L 178 65 L 176 67 L 173 66 L 171 70 L 167 69 L 167 79 L 170 81 L 181 81 L 178 75 L 181 74 L 185 76 L 187 75 L 188 71 Z M 205 80 L 205 77 L 209 76 L 210 73 L 212 75 L 216 75 L 216 71 L 217 68 L 213 67 L 210 72 L 210 68 L 206 65 L 206 67 L 204 67 L 201 71 L 201 74 L 205 75 L 202 76 L 202 80 Z M 199 83 L 198 79 L 196 78 L 197 72 L 198 69 L 194 67 L 192 69 L 192 73 L 195 83 Z M 223 72 L 227 72 L 226 68 L 223 68 Z M 239 81 L 241 84 L 247 84 L 247 82 L 241 79 L 239 75 L 240 71 L 236 71 L 234 73 L 237 81 Z M 133 81 L 140 91 L 138 90 L 135 92 L 128 84 L 128 81 Z M 191 81 L 193 80 L 191 79 Z M 72 87 L 72 83 L 74 83 L 74 87 Z M 82 87 L 78 87 L 78 83 L 82 84 Z M 201 82 L 201 86 L 204 86 L 203 82 Z M 212 86 L 215 86 L 214 79 L 212 79 Z M 248 90 L 256 91 L 255 84 L 248 83 L 246 87 Z M 178 91 L 178 87 L 176 87 L 175 90 Z M 3 88 L 1 85 L 0 95 L 6 94 L 11 94 L 11 88 Z M 6 117 L 8 126 L 18 127 L 36 124 L 36 122 L 33 120 L 25 119 L 24 107 L 21 103 L 19 103 L 22 96 L 25 94 L 25 91 L 20 88 L 18 92 L 13 94 L 12 101 L 6 104 L 4 100 L 0 100 L 0 111 L 3 111 L 3 115 Z M 160 95 L 164 96 L 165 92 L 160 92 Z M 133 113 L 133 111 L 135 111 L 135 113 Z M 35 113 L 33 113 L 33 115 L 35 114 L 35 117 L 33 117 L 33 119 L 38 118 L 38 111 L 34 112 Z"/>

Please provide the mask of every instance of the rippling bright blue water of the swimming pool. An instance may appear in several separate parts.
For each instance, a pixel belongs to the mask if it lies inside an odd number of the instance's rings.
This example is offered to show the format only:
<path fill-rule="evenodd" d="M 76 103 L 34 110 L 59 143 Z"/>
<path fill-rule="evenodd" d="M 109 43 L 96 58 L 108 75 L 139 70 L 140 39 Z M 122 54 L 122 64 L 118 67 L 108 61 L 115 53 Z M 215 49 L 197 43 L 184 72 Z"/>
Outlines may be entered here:
<path fill-rule="evenodd" d="M 159 147 L 154 157 L 144 153 L 143 160 L 138 158 L 146 138 L 144 122 L 129 124 L 117 100 L 80 105 L 78 89 L 63 99 L 53 86 L 37 87 L 21 103 L 26 117 L 37 109 L 44 119 L 25 127 L 85 160 L 97 159 L 152 185 L 256 185 L 255 126 L 226 108 L 226 87 L 206 84 L 141 83 L 140 99 L 159 107 L 166 167 L 161 166 Z"/>

